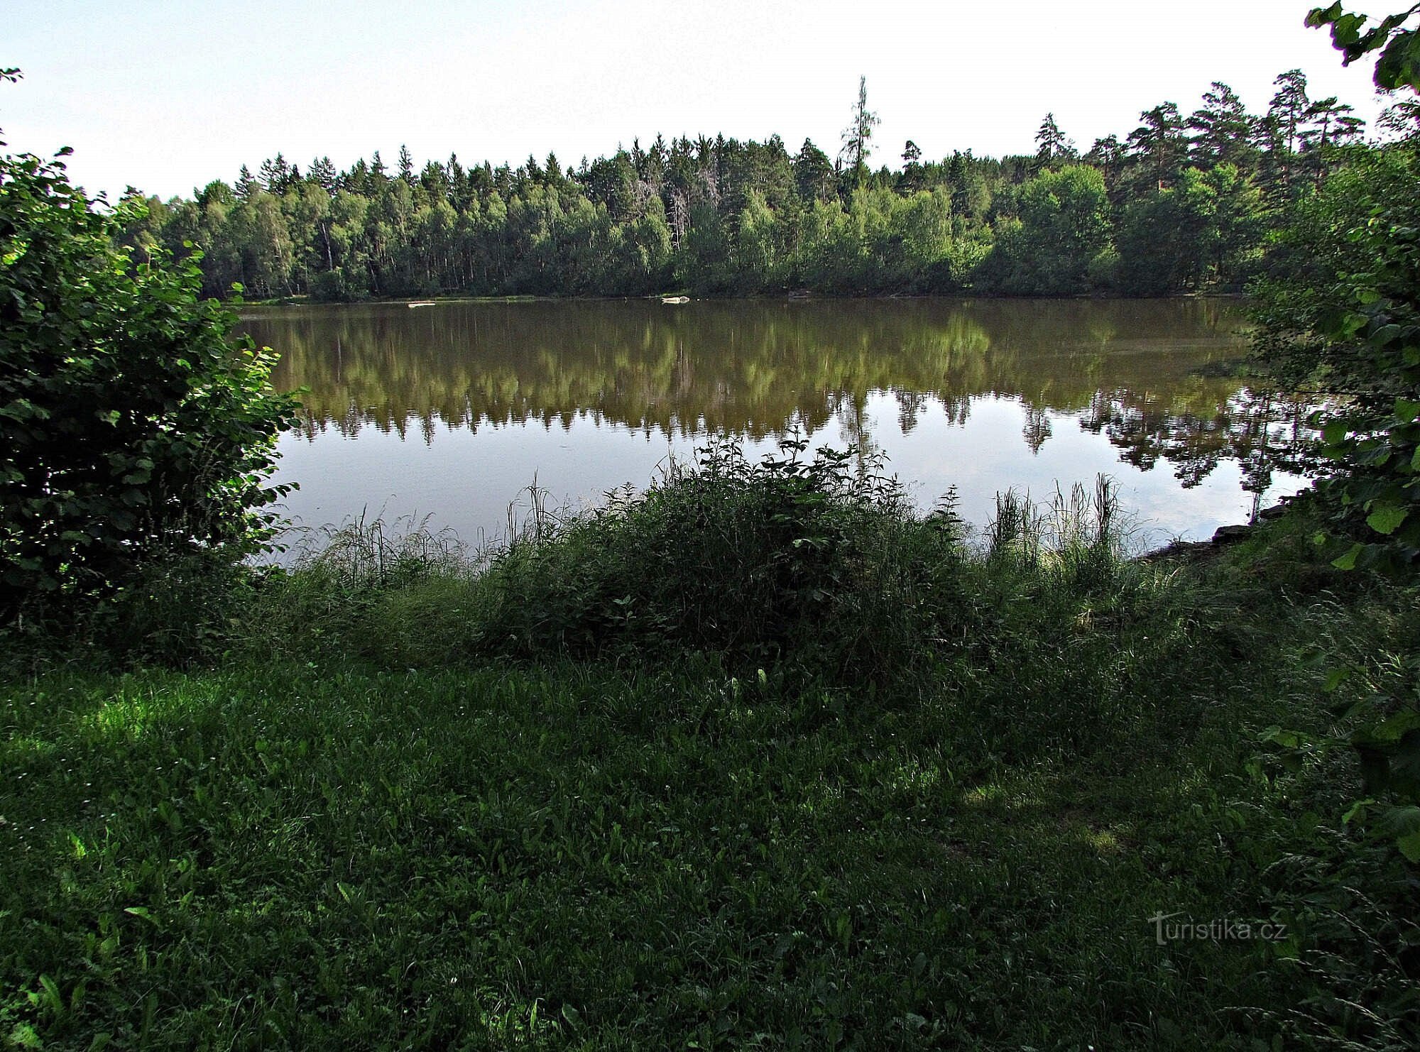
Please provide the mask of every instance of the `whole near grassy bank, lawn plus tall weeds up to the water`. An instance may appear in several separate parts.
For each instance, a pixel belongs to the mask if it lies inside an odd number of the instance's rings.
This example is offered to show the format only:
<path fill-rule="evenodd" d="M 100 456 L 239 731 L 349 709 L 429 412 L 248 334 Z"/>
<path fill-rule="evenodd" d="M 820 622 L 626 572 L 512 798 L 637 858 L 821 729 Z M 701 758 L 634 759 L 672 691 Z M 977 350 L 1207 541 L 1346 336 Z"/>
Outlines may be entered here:
<path fill-rule="evenodd" d="M 1413 592 L 1296 520 L 1180 565 L 1108 491 L 1000 511 L 719 451 L 493 557 L 155 581 L 126 659 L 7 676 L 0 1034 L 1410 1046 L 1411 875 L 1261 738 L 1402 674 Z"/>

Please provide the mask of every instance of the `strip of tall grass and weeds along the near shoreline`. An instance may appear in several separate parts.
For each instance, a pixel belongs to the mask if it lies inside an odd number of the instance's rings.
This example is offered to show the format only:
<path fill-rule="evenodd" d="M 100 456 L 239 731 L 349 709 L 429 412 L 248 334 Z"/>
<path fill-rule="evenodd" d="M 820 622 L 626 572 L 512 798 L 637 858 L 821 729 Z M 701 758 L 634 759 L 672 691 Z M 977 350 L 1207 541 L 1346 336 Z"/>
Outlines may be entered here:
<path fill-rule="evenodd" d="M 1120 521 L 1105 478 L 1048 507 L 1007 493 L 978 551 L 954 494 L 922 514 L 882 459 L 791 439 L 751 461 L 711 443 L 589 510 L 552 510 L 534 483 L 504 541 L 479 551 L 426 524 L 346 524 L 270 589 L 256 622 L 263 646 L 405 667 L 713 654 L 883 683 L 984 645 L 1030 592 L 1055 592 L 1048 605 L 1074 623 L 1082 598 L 1098 605 L 1137 576 Z"/>

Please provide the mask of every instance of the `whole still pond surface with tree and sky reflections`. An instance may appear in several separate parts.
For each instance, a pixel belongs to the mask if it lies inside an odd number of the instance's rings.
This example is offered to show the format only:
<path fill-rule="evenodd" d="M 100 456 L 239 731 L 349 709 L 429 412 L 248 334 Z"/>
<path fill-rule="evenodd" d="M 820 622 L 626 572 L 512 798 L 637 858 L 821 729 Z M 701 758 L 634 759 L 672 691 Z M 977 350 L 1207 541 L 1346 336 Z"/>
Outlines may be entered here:
<path fill-rule="evenodd" d="M 503 534 L 525 488 L 552 504 L 643 487 L 706 434 L 771 451 L 882 451 L 923 507 L 956 487 L 984 525 L 1000 490 L 1115 477 L 1140 544 L 1207 537 L 1302 481 L 1269 470 L 1301 410 L 1227 366 L 1233 301 L 447 302 L 251 308 L 305 386 L 278 481 L 301 524 L 429 515 Z M 1265 410 L 1265 412 L 1260 412 Z M 520 491 L 521 498 L 520 498 Z"/>

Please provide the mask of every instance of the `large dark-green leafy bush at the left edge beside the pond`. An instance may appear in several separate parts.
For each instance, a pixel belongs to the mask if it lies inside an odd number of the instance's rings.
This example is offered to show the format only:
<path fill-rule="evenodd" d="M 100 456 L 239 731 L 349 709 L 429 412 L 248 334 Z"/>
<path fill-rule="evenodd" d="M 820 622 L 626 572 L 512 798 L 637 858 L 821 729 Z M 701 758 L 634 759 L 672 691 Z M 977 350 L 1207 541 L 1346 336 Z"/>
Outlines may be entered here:
<path fill-rule="evenodd" d="M 0 160 L 0 619 L 112 593 L 179 552 L 267 549 L 273 437 L 294 403 L 233 344 L 200 271 L 115 250 L 138 220 L 62 165 Z"/>

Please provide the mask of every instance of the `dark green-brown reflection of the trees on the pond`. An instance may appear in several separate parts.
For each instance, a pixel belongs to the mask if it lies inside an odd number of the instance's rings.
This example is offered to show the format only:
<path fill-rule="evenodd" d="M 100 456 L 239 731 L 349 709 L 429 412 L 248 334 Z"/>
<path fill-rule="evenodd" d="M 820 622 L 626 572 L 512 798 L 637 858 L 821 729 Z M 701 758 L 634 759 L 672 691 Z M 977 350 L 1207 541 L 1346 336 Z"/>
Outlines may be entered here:
<path fill-rule="evenodd" d="M 436 442 L 444 429 L 574 420 L 648 436 L 772 439 L 838 422 L 873 443 L 866 406 L 896 402 L 910 434 L 930 407 L 968 426 L 981 399 L 1024 409 L 1021 454 L 1062 417 L 1142 470 L 1194 487 L 1237 461 L 1262 493 L 1304 467 L 1305 407 L 1250 390 L 1240 304 L 1210 300 L 450 302 L 251 309 L 281 352 L 274 380 L 305 386 L 314 442 L 373 427 Z"/>

